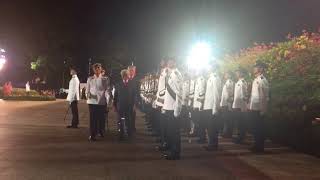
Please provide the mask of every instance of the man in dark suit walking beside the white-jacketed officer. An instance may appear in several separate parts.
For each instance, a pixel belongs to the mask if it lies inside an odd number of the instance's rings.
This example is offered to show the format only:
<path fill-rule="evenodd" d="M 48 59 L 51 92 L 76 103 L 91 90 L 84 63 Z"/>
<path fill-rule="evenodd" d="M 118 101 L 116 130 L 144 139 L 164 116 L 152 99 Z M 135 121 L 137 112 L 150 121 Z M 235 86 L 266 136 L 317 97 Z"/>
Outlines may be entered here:
<path fill-rule="evenodd" d="M 122 82 L 115 86 L 113 105 L 118 113 L 118 131 L 119 138 L 122 140 L 127 133 L 132 136 L 132 123 L 130 122 L 130 88 L 127 70 L 121 71 Z"/>

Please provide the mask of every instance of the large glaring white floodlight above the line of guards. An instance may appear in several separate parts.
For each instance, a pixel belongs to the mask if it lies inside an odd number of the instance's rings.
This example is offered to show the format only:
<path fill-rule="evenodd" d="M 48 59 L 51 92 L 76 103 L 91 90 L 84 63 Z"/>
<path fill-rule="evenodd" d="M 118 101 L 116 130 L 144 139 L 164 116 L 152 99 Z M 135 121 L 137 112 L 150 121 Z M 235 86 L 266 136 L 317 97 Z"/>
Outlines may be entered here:
<path fill-rule="evenodd" d="M 210 44 L 199 42 L 192 47 L 187 63 L 188 66 L 193 69 L 207 68 L 211 58 L 212 52 Z"/>

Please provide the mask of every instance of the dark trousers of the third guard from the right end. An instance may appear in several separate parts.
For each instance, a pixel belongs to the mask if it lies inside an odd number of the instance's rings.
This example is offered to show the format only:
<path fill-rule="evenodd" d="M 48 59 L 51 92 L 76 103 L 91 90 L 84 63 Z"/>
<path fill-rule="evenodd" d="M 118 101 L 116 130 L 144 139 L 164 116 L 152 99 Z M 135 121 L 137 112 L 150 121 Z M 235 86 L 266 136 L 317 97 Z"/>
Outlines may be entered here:
<path fill-rule="evenodd" d="M 223 122 L 223 135 L 226 137 L 232 137 L 234 123 L 232 113 L 228 107 L 222 107 L 221 121 Z"/>

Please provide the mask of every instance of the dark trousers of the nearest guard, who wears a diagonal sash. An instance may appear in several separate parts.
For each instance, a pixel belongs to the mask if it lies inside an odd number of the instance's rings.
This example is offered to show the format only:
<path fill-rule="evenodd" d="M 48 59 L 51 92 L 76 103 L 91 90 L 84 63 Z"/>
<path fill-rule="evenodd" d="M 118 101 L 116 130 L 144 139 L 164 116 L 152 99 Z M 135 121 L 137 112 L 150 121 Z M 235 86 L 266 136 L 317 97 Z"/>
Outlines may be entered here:
<path fill-rule="evenodd" d="M 165 115 L 166 119 L 168 120 L 168 151 L 173 156 L 179 156 L 181 151 L 179 120 L 178 118 L 174 117 L 173 111 L 166 111 Z"/>

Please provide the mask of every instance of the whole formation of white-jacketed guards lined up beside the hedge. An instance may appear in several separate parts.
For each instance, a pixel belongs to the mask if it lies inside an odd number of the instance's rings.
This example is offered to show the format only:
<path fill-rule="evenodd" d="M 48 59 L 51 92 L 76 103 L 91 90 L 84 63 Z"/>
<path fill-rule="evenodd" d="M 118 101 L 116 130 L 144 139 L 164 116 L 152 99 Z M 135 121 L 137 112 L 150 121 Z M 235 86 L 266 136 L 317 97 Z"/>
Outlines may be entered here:
<path fill-rule="evenodd" d="M 218 64 L 192 70 L 177 66 L 175 58 L 161 61 L 157 74 L 140 82 L 140 108 L 156 149 L 168 160 L 180 159 L 181 134 L 196 137 L 207 151 L 218 150 L 218 136 L 244 143 L 252 134 L 254 153 L 264 151 L 264 115 L 269 101 L 265 65 L 257 61 L 255 79 L 245 79 L 245 70 L 224 72 Z M 249 82 L 248 82 L 249 81 Z"/>

